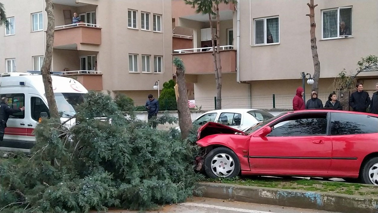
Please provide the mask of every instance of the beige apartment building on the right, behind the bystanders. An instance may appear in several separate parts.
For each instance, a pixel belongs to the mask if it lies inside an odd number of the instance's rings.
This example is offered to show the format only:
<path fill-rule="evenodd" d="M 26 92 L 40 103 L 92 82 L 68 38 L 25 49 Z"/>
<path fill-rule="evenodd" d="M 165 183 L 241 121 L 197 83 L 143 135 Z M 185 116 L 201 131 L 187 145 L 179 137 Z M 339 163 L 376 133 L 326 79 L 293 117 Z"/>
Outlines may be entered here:
<path fill-rule="evenodd" d="M 309 1 L 239 0 L 238 5 L 220 5 L 220 39 L 223 72 L 223 106 L 290 108 L 301 72 L 313 74 L 310 44 Z M 355 72 L 357 62 L 378 55 L 378 1 L 316 0 L 316 42 L 321 75 L 319 94 L 328 97 L 334 78 L 345 69 Z M 216 95 L 211 51 L 208 44 L 208 16 L 196 14 L 182 0 L 172 0 L 174 26 L 193 30 L 192 50 L 176 49 L 186 64 L 187 80 L 194 83 L 197 104 L 212 103 Z M 343 32 L 339 25 L 347 27 Z M 231 45 L 228 46 L 228 45 Z M 372 94 L 378 72 L 358 75 Z M 306 85 L 309 97 L 311 86 Z M 248 99 L 248 101 L 244 101 Z M 243 100 L 241 103 L 239 103 Z M 235 103 L 236 104 L 233 104 Z M 248 106 L 248 103 L 251 105 Z"/>

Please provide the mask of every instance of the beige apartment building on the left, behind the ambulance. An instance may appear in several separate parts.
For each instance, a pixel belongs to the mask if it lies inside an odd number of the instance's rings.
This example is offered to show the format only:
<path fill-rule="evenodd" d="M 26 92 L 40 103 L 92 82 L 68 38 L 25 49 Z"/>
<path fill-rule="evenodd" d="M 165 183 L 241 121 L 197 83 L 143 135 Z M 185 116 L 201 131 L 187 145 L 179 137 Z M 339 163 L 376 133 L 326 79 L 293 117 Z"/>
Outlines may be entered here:
<path fill-rule="evenodd" d="M 2 0 L 11 27 L 0 31 L 1 72 L 40 70 L 45 51 L 45 0 Z M 172 79 L 170 0 L 53 0 L 52 70 L 87 89 L 158 96 Z M 72 24 L 74 13 L 81 18 Z M 138 104 L 138 103 L 137 103 Z"/>

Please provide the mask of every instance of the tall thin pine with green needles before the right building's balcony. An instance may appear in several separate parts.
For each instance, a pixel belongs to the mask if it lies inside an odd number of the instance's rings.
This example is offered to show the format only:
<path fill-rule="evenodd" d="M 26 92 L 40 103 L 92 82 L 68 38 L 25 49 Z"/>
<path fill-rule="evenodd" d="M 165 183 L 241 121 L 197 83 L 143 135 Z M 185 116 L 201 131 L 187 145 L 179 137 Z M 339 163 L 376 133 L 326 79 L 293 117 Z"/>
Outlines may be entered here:
<path fill-rule="evenodd" d="M 217 48 L 215 48 L 215 40 L 219 41 L 220 38 L 220 16 L 219 16 L 219 4 L 236 4 L 235 0 L 184 0 L 186 4 L 192 5 L 192 8 L 196 8 L 196 13 L 208 14 L 210 31 L 211 31 L 211 44 L 212 44 L 212 56 L 214 62 L 215 71 L 215 84 L 217 86 L 217 110 L 222 109 L 222 65 L 220 61 L 220 45 L 217 42 Z M 217 32 L 213 31 L 212 16 L 216 16 Z"/>

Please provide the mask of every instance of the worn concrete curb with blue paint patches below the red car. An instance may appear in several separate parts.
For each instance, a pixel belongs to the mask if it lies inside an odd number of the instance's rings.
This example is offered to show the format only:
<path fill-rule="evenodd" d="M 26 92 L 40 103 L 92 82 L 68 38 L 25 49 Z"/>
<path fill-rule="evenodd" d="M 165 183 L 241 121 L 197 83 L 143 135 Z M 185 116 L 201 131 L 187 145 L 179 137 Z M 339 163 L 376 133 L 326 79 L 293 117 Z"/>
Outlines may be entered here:
<path fill-rule="evenodd" d="M 378 213 L 378 197 L 201 182 L 195 196 L 345 213 Z"/>

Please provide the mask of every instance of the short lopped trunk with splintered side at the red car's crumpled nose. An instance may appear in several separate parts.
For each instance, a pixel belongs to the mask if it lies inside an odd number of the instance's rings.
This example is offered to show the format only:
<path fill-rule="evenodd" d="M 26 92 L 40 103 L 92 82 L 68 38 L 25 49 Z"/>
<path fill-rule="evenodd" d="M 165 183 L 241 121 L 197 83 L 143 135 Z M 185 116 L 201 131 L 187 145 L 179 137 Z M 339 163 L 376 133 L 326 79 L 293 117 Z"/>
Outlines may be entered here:
<path fill-rule="evenodd" d="M 181 138 L 185 139 L 188 137 L 190 131 L 193 128 L 192 119 L 189 111 L 188 97 L 186 94 L 186 82 L 185 82 L 185 67 L 183 60 L 181 58 L 175 57 L 173 64 L 176 67 L 176 80 L 178 84 L 178 100 L 177 100 L 177 111 L 178 111 L 178 123 L 181 130 Z"/>

